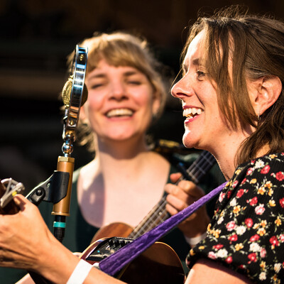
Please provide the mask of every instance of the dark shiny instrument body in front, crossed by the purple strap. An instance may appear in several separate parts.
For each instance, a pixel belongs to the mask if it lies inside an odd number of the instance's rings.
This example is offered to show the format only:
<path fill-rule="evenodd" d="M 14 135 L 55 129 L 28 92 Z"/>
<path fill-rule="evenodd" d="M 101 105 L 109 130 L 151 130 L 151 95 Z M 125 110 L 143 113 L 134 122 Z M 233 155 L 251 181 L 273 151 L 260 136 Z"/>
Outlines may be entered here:
<path fill-rule="evenodd" d="M 94 241 L 80 256 L 99 268 L 99 262 L 118 251 L 133 239 L 111 237 Z M 107 261 L 107 259 L 105 259 Z M 180 258 L 167 244 L 155 242 L 149 249 L 124 267 L 115 278 L 129 284 L 182 284 L 185 272 Z"/>

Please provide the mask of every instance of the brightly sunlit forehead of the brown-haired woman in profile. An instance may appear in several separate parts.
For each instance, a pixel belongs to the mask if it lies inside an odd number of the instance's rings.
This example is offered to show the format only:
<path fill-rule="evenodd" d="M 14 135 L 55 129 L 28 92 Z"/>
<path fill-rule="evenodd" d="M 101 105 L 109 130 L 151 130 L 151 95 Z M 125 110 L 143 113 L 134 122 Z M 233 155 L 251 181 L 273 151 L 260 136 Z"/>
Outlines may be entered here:
<path fill-rule="evenodd" d="M 189 67 L 190 65 L 200 65 L 202 60 L 202 40 L 204 38 L 204 31 L 198 33 L 187 48 L 183 65 Z"/>

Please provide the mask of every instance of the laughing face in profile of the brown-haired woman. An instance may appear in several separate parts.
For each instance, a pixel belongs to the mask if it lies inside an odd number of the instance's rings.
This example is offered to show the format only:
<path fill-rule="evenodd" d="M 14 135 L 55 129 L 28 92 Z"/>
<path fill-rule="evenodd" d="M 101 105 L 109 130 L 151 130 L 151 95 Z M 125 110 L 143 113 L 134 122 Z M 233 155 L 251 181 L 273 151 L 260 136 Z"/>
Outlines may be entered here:
<path fill-rule="evenodd" d="M 204 31 L 190 43 L 182 65 L 183 77 L 174 85 L 172 94 L 182 101 L 183 116 L 186 117 L 185 146 L 214 152 L 234 137 L 244 136 L 240 130 L 232 131 L 219 109 L 217 91 L 202 66 L 203 37 Z"/>

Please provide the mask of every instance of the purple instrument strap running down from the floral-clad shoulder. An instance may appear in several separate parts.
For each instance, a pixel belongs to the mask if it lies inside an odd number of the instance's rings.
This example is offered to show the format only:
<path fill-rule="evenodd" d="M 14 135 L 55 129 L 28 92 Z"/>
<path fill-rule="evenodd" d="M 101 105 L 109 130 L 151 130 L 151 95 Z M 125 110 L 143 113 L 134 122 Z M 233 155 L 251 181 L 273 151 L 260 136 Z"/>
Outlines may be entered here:
<path fill-rule="evenodd" d="M 219 187 L 216 187 L 214 190 L 209 192 L 207 195 L 204 195 L 196 202 L 190 204 L 189 207 L 178 212 L 178 214 L 173 215 L 172 217 L 166 219 L 163 223 L 159 224 L 155 228 L 148 231 L 146 234 L 139 236 L 137 239 L 134 239 L 130 244 L 122 247 L 115 253 L 111 254 L 107 258 L 104 258 L 99 262 L 99 268 L 105 273 L 114 276 L 116 273 L 121 271 L 126 264 L 133 261 L 134 258 L 139 256 L 143 251 L 146 251 L 150 246 L 152 246 L 155 241 L 161 239 L 165 234 L 175 228 L 180 222 L 190 216 L 195 210 L 199 209 L 206 202 L 211 200 L 219 192 L 222 191 L 226 182 Z"/>

